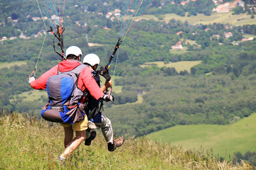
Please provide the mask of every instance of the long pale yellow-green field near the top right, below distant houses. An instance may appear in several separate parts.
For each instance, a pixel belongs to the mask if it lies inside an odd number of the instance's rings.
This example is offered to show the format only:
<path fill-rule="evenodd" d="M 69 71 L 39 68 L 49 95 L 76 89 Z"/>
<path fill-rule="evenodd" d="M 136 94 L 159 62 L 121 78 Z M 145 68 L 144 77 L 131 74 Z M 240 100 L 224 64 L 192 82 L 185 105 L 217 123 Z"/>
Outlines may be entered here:
<path fill-rule="evenodd" d="M 232 15 L 233 12 L 228 13 L 212 13 L 210 16 L 205 16 L 201 13 L 198 13 L 197 16 L 178 16 L 174 13 L 168 13 L 166 15 L 162 15 L 164 21 L 169 23 L 171 19 L 180 20 L 180 21 L 188 21 L 191 24 L 212 24 L 212 23 L 230 23 L 234 26 L 242 26 L 245 24 L 256 24 L 256 19 L 251 18 L 250 15 L 246 13 L 241 13 L 239 15 Z M 156 16 L 145 16 L 144 19 L 154 19 L 155 21 L 159 21 L 159 18 Z"/>

